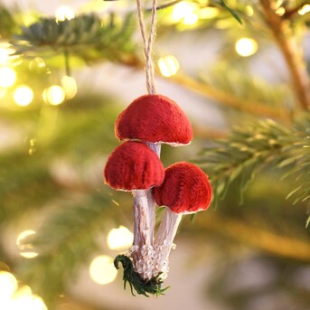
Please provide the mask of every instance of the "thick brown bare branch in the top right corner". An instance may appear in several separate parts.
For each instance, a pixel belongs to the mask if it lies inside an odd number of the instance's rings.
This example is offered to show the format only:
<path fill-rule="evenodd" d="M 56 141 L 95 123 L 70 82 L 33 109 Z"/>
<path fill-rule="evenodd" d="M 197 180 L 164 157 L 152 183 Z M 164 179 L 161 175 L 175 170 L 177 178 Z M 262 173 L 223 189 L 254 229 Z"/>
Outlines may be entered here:
<path fill-rule="evenodd" d="M 266 22 L 272 31 L 280 52 L 287 62 L 287 69 L 291 75 L 293 89 L 296 99 L 301 108 L 310 107 L 310 83 L 306 72 L 305 61 L 296 47 L 292 30 L 288 23 L 284 22 L 273 10 L 269 0 L 259 0 L 263 8 Z"/>

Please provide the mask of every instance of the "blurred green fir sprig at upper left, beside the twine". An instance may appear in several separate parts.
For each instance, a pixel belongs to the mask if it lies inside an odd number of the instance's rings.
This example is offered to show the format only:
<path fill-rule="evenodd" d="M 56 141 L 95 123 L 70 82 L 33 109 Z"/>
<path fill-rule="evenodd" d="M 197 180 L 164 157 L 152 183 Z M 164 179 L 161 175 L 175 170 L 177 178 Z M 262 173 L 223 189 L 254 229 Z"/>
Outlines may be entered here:
<path fill-rule="evenodd" d="M 22 33 L 14 35 L 17 53 L 33 55 L 43 52 L 70 52 L 84 61 L 95 61 L 105 57 L 116 61 L 133 52 L 132 35 L 136 27 L 133 14 L 123 20 L 115 14 L 108 14 L 102 20 L 96 14 L 81 14 L 71 20 L 57 21 L 42 17 L 29 27 L 22 27 Z"/>

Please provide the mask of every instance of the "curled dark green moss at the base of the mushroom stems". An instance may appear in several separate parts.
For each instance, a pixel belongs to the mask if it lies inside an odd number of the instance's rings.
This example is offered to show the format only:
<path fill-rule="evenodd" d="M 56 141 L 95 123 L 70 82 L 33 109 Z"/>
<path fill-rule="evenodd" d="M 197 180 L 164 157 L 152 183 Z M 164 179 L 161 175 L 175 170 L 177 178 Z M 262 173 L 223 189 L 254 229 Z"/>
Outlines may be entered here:
<path fill-rule="evenodd" d="M 135 296 L 134 289 L 138 295 L 148 297 L 147 294 L 151 294 L 153 296 L 164 295 L 164 291 L 169 288 L 161 288 L 163 281 L 160 279 L 160 274 L 158 274 L 156 277 L 152 277 L 148 281 L 142 280 L 134 270 L 132 260 L 127 256 L 117 255 L 117 258 L 114 260 L 115 268 L 119 268 L 119 263 L 121 263 L 122 267 L 124 268 L 124 289 L 126 289 L 126 285 L 129 283 L 131 294 L 133 296 Z"/>

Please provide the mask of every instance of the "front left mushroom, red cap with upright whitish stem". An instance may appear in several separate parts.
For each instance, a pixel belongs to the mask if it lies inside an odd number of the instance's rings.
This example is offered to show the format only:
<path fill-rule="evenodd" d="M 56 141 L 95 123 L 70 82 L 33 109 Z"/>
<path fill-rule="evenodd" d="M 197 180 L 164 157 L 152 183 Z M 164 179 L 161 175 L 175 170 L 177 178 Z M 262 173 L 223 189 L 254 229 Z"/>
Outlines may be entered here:
<path fill-rule="evenodd" d="M 153 246 L 153 235 L 150 232 L 154 225 L 150 222 L 148 193 L 153 186 L 163 182 L 164 166 L 146 144 L 127 141 L 117 146 L 108 157 L 104 179 L 114 189 L 133 192 L 134 250 L 131 255 L 134 261 L 141 260 L 145 266 L 152 255 L 148 249 Z M 141 269 L 139 273 L 144 279 L 152 277 L 151 270 L 146 268 Z"/>

